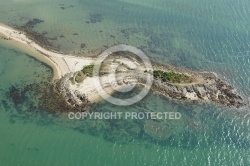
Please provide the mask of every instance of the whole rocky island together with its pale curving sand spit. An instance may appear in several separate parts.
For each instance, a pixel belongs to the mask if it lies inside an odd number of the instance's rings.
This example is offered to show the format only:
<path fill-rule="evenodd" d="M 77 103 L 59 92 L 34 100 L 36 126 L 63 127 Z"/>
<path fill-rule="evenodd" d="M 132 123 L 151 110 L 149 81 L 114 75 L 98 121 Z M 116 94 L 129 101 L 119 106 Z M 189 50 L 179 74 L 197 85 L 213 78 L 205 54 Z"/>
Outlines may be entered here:
<path fill-rule="evenodd" d="M 152 79 L 151 90 L 170 99 L 185 102 L 217 103 L 229 107 L 244 106 L 243 98 L 234 88 L 212 72 L 195 72 L 171 65 L 152 63 L 150 69 L 133 53 L 104 51 L 109 55 L 94 74 L 98 57 L 77 57 L 50 51 L 28 38 L 24 32 L 0 25 L 1 40 L 29 50 L 32 56 L 48 64 L 54 71 L 53 91 L 71 107 L 86 106 L 108 98 L 114 92 L 125 92 L 138 86 L 145 88 L 147 78 Z M 100 82 L 102 90 L 95 85 Z"/>

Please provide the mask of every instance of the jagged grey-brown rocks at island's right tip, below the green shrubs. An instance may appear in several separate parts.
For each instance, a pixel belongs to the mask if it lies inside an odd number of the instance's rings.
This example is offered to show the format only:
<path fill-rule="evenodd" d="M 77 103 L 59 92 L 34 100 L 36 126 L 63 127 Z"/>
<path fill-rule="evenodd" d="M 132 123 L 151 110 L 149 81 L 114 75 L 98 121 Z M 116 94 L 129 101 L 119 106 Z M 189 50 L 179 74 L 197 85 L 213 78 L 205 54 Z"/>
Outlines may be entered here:
<path fill-rule="evenodd" d="M 203 77 L 209 80 L 209 83 L 178 86 L 157 79 L 154 80 L 152 89 L 180 101 L 210 102 L 236 108 L 245 105 L 242 97 L 236 94 L 232 86 L 215 75 L 213 77 L 203 75 Z"/>

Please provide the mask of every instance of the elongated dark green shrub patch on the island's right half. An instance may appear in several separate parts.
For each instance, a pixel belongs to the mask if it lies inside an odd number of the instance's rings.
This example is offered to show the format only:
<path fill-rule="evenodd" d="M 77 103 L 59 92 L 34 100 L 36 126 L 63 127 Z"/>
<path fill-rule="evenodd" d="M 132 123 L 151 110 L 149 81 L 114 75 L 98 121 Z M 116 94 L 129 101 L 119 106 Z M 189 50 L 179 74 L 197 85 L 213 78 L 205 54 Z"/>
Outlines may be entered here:
<path fill-rule="evenodd" d="M 170 82 L 170 83 L 190 83 L 192 82 L 192 79 L 185 75 L 180 73 L 175 73 L 173 71 L 171 72 L 164 72 L 161 70 L 155 70 L 153 71 L 154 78 L 161 79 L 163 82 Z"/>

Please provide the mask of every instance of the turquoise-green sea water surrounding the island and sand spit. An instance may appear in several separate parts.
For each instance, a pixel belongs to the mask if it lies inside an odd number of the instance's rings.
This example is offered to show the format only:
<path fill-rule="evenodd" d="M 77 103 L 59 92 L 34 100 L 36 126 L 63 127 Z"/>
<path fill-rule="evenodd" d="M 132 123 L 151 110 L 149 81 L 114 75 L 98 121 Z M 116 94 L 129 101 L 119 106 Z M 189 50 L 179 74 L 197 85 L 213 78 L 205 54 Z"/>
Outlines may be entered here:
<path fill-rule="evenodd" d="M 57 37 L 54 46 L 79 56 L 133 45 L 153 61 L 214 71 L 249 99 L 249 8 L 247 0 L 18 0 L 0 2 L 0 22 L 42 19 L 33 30 Z M 91 109 L 178 111 L 181 120 L 72 121 L 37 106 L 37 89 L 52 77 L 47 66 L 6 46 L 0 59 L 0 165 L 250 164 L 249 110 L 149 94 L 131 107 L 102 102 Z M 35 90 L 27 91 L 30 84 Z M 19 104 L 9 96 L 13 87 L 22 94 Z"/>

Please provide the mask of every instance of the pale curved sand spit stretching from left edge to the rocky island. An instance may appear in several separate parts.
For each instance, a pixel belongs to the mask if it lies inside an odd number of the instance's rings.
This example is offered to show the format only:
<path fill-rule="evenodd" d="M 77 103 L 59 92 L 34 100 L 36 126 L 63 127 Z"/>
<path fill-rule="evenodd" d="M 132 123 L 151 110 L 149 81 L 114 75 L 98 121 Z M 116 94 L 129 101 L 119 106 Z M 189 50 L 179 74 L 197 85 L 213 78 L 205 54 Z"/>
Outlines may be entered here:
<path fill-rule="evenodd" d="M 94 58 L 64 55 L 49 51 L 29 39 L 24 32 L 0 23 L 0 43 L 25 52 L 37 60 L 49 65 L 53 70 L 53 80 L 61 79 L 70 72 L 76 72 L 89 65 Z M 77 64 L 77 65 L 76 65 Z"/>

